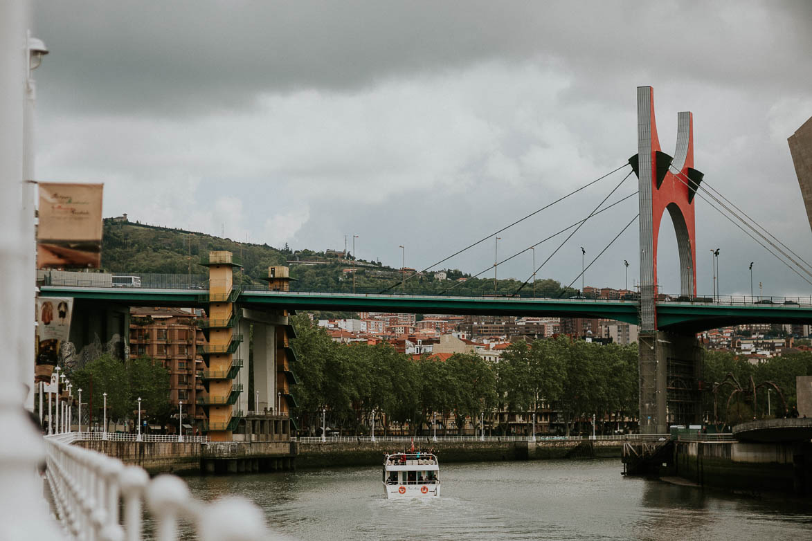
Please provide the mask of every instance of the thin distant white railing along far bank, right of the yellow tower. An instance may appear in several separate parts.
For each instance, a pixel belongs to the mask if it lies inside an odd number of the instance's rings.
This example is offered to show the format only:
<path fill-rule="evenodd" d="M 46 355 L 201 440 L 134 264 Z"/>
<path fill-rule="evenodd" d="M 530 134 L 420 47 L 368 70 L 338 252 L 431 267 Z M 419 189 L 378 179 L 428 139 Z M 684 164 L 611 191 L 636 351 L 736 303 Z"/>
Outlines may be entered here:
<path fill-rule="evenodd" d="M 435 441 L 651 441 L 660 438 L 667 439 L 670 434 L 618 434 L 612 436 L 327 436 L 322 440 L 321 436 L 316 437 L 292 437 L 292 441 L 303 444 L 339 444 L 358 443 L 361 441 L 375 441 L 382 443 L 434 443 Z"/>

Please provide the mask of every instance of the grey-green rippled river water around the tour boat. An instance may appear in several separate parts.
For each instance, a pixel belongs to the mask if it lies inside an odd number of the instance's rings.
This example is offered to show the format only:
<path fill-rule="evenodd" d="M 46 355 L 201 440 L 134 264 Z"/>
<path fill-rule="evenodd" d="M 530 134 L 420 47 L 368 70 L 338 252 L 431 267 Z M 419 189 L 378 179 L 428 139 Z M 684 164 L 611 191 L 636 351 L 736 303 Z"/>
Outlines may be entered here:
<path fill-rule="evenodd" d="M 246 496 L 283 539 L 812 539 L 812 503 L 624 478 L 617 459 L 441 464 L 438 500 L 386 500 L 380 467 L 187 478 Z"/>

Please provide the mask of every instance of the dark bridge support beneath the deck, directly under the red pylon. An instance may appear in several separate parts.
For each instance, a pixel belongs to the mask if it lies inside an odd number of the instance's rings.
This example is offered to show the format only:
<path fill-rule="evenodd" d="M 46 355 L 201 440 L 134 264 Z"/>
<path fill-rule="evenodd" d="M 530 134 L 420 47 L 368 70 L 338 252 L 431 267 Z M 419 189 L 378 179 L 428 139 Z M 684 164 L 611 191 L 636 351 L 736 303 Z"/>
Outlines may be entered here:
<path fill-rule="evenodd" d="M 641 336 L 640 432 L 702 422 L 702 346 L 693 336 L 656 331 Z"/>

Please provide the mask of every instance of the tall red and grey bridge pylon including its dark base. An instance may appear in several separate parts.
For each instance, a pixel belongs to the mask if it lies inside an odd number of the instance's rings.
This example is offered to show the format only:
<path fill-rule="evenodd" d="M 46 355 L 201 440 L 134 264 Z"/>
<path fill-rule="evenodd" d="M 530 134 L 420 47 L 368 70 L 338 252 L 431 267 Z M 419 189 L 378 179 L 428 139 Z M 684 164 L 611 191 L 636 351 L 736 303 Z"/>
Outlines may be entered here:
<path fill-rule="evenodd" d="M 678 114 L 676 152 L 667 155 L 654 120 L 654 89 L 638 87 L 637 154 L 629 163 L 640 189 L 640 431 L 662 433 L 669 423 L 701 417 L 701 348 L 695 338 L 663 333 L 657 324 L 657 240 L 666 211 L 676 230 L 680 295 L 697 293 L 693 199 L 702 173 L 693 169 L 693 115 Z"/>

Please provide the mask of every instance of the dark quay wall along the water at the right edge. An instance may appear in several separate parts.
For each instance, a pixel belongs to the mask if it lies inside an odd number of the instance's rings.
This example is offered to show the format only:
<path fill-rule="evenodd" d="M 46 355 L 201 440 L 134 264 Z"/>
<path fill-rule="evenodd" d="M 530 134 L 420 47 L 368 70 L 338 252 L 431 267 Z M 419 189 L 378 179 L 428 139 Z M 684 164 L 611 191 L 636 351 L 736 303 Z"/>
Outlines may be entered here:
<path fill-rule="evenodd" d="M 812 496 L 812 444 L 678 441 L 674 474 L 701 486 Z"/>

